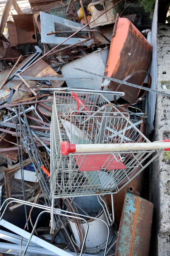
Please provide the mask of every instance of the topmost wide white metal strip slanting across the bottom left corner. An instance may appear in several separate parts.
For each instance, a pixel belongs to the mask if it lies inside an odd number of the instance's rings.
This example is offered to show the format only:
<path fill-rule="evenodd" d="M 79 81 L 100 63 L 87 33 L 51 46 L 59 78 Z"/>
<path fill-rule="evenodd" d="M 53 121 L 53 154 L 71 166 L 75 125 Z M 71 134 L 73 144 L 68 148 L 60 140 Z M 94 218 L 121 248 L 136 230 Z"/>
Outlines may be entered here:
<path fill-rule="evenodd" d="M 43 212 L 48 212 L 48 211 L 43 211 Z M 26 239 L 30 238 L 30 233 L 28 233 L 25 230 L 22 230 L 20 227 L 17 227 L 15 225 L 9 223 L 8 221 L 3 220 L 3 219 L 1 219 L 1 221 L 0 221 L 0 226 L 3 226 L 5 228 L 7 228 L 8 230 L 11 230 L 14 233 L 17 233 L 18 235 L 23 236 Z M 60 249 L 59 247 L 56 247 L 56 246 L 40 239 L 39 237 L 36 237 L 34 235 L 32 236 L 31 241 L 34 242 L 35 244 L 40 245 L 41 247 L 43 247 L 43 248 L 45 248 L 49 251 L 52 251 L 53 253 L 56 253 L 59 256 L 71 256 L 70 253 L 68 253 L 68 252 Z M 24 255 L 24 253 L 23 253 L 23 255 Z"/>

